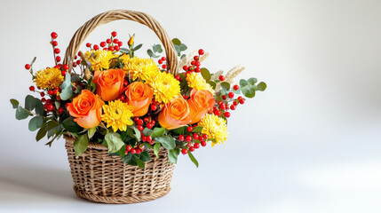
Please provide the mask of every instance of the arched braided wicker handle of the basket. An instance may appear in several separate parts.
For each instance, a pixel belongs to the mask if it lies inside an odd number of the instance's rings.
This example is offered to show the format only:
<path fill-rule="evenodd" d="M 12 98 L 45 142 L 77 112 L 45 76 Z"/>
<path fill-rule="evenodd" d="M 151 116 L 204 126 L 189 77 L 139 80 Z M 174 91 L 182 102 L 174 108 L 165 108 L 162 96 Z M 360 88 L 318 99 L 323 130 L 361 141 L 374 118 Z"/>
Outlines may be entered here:
<path fill-rule="evenodd" d="M 71 41 L 67 46 L 63 63 L 68 64 L 71 67 L 75 53 L 78 51 L 79 45 L 83 43 L 83 40 L 86 39 L 92 30 L 98 26 L 107 24 L 113 20 L 134 20 L 140 24 L 146 25 L 148 28 L 151 28 L 163 43 L 163 47 L 167 56 L 167 67 L 169 71 L 173 75 L 178 73 L 178 54 L 175 51 L 170 36 L 167 35 L 163 27 L 159 24 L 159 22 L 157 22 L 157 20 L 144 12 L 134 12 L 128 10 L 113 10 L 103 12 L 84 23 L 81 28 L 76 30 L 75 35 L 71 38 Z"/>

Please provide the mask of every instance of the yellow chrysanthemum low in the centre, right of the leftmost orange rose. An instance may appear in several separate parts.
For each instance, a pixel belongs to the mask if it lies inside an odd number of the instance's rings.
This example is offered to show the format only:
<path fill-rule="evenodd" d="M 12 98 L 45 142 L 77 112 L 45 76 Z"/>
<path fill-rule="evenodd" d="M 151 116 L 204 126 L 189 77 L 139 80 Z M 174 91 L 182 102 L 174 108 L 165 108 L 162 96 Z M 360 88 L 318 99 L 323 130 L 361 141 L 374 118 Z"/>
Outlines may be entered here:
<path fill-rule="evenodd" d="M 123 103 L 121 100 L 108 102 L 103 106 L 104 114 L 102 114 L 102 121 L 107 123 L 107 128 L 112 127 L 116 130 L 127 130 L 127 125 L 132 125 L 131 117 L 133 106 Z"/>

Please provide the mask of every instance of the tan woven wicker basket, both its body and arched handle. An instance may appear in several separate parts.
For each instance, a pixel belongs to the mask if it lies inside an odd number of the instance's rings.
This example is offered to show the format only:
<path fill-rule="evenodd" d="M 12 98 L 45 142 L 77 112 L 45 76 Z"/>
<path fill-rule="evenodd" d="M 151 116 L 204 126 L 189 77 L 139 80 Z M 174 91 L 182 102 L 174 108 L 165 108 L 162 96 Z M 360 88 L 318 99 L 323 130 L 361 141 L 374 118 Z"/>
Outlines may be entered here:
<path fill-rule="evenodd" d="M 73 64 L 75 52 L 94 28 L 113 20 L 134 20 L 151 28 L 163 43 L 171 74 L 177 74 L 177 53 L 160 24 L 143 12 L 126 10 L 100 13 L 78 28 L 67 47 L 64 64 Z M 107 147 L 100 144 L 90 143 L 83 154 L 75 156 L 75 138 L 64 138 L 74 190 L 79 197 L 104 203 L 136 203 L 155 200 L 171 190 L 174 165 L 163 147 L 158 158 L 152 150 L 148 151 L 151 161 L 145 163 L 145 169 L 140 169 L 123 163 L 120 156 L 107 154 Z"/>

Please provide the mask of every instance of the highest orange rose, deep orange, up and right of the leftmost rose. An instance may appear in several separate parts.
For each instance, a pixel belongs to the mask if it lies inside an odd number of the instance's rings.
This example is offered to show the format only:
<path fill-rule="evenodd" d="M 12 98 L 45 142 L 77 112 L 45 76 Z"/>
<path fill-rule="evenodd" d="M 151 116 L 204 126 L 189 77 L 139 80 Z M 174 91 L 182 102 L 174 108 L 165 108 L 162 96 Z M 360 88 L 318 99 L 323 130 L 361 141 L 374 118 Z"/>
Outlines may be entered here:
<path fill-rule="evenodd" d="M 104 101 L 115 100 L 123 90 L 123 69 L 95 71 L 93 83 L 97 85 L 97 94 Z"/>

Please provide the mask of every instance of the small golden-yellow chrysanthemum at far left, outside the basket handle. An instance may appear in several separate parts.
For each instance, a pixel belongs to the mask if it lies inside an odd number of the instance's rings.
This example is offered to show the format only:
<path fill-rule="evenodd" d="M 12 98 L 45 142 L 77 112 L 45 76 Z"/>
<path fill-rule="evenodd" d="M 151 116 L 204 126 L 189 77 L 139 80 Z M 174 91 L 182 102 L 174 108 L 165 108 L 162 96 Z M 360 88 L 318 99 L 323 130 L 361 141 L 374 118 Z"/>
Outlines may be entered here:
<path fill-rule="evenodd" d="M 34 82 L 36 86 L 43 89 L 52 89 L 60 86 L 64 77 L 61 75 L 61 71 L 58 68 L 46 68 L 36 73 Z"/>

